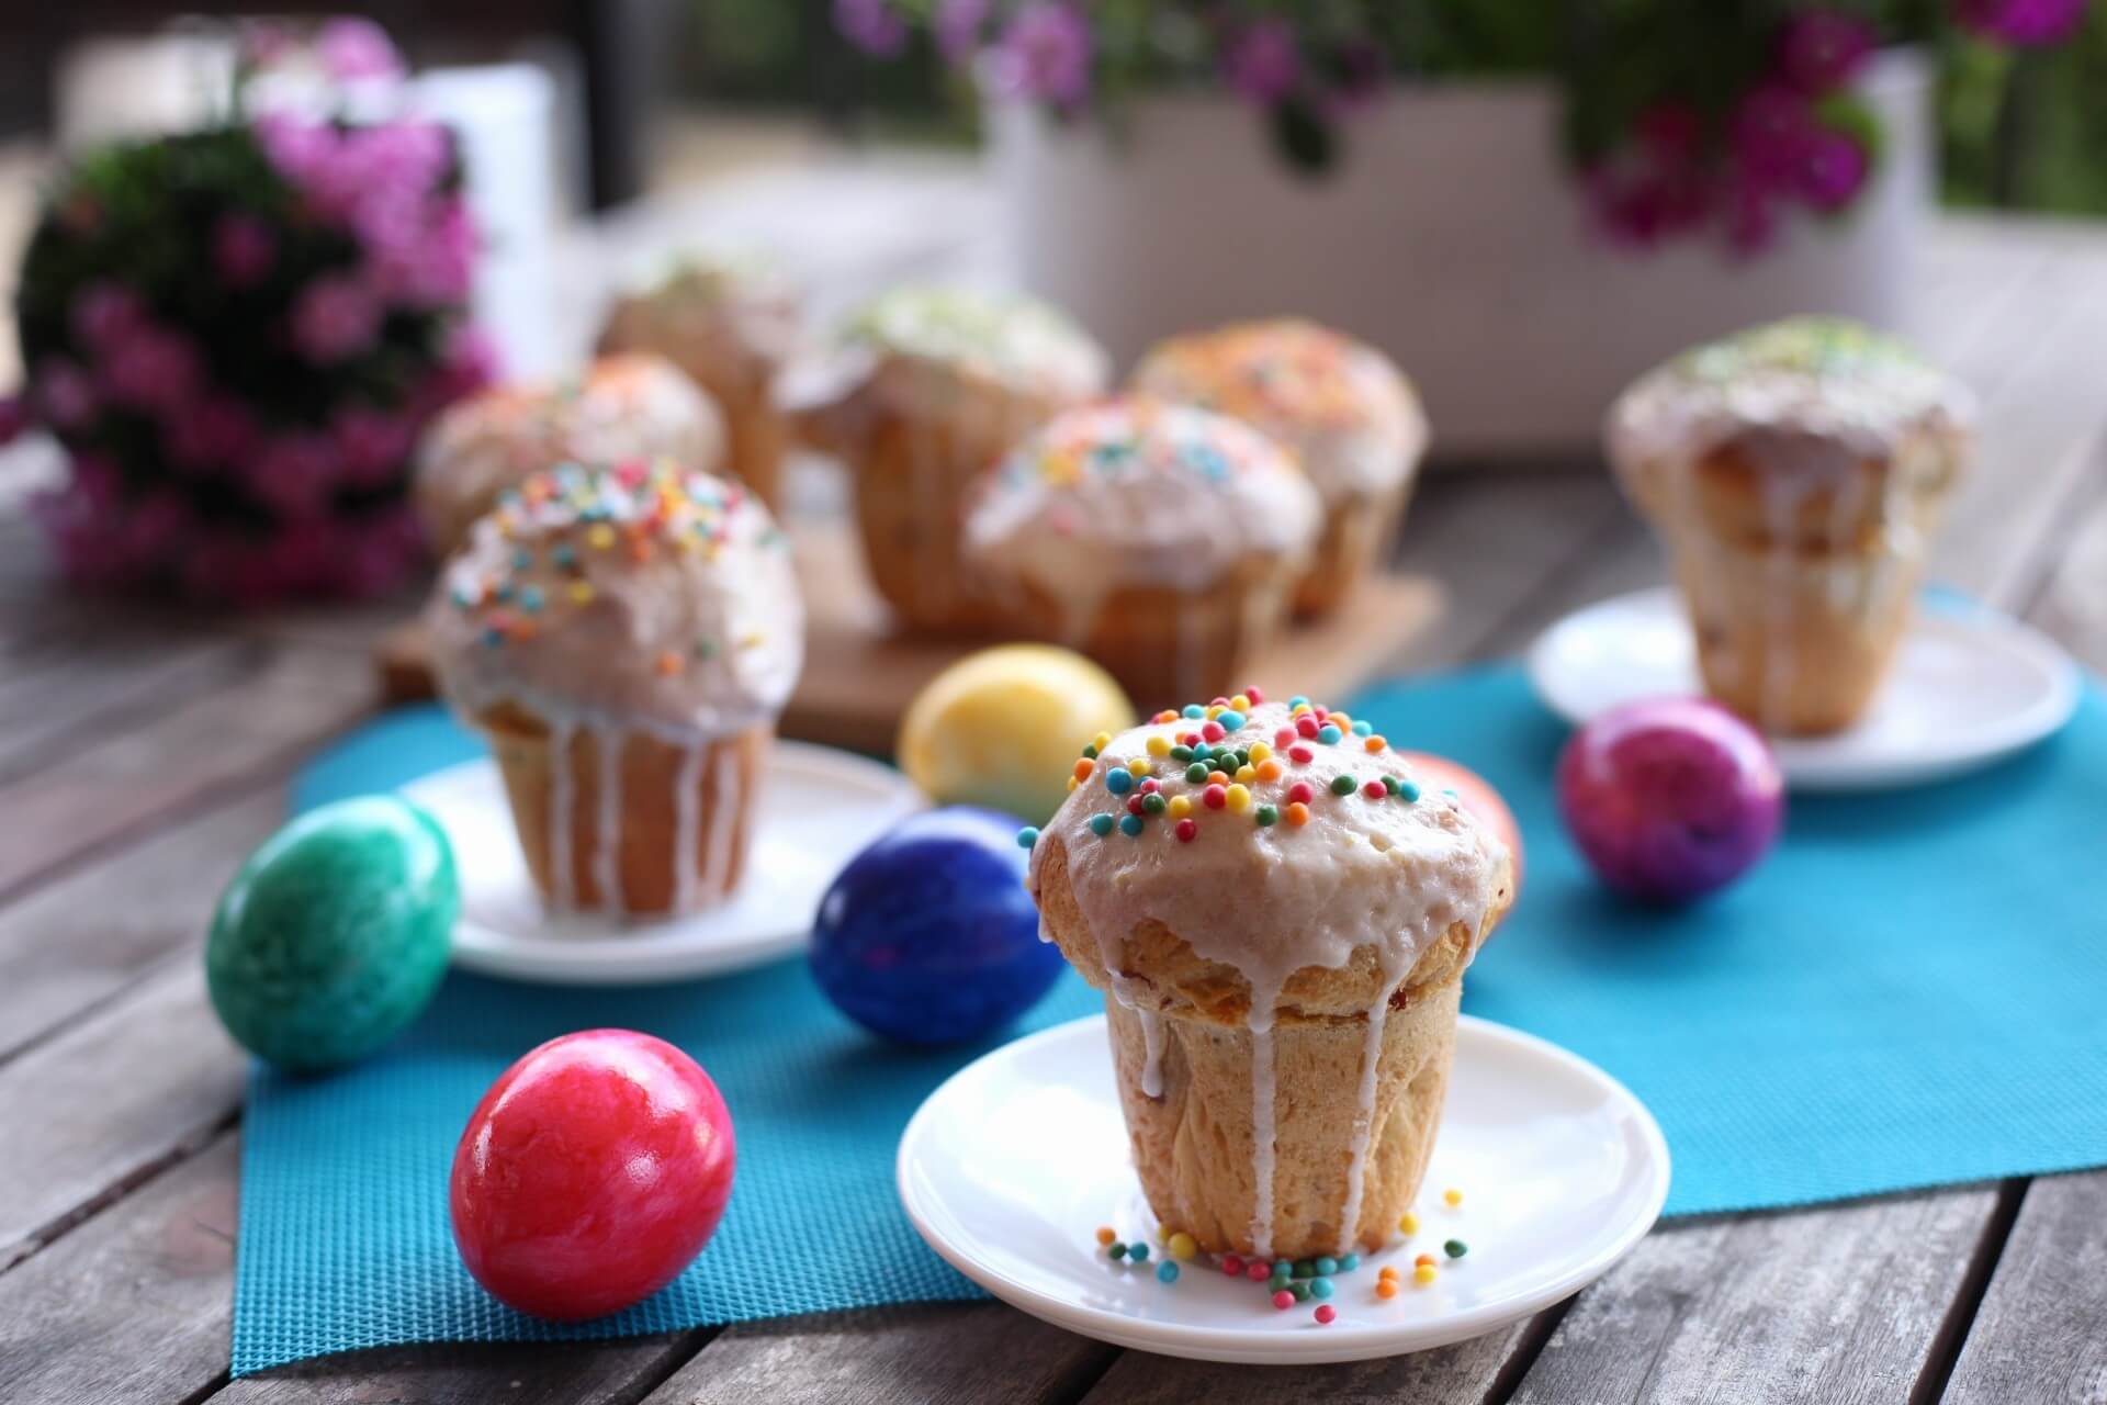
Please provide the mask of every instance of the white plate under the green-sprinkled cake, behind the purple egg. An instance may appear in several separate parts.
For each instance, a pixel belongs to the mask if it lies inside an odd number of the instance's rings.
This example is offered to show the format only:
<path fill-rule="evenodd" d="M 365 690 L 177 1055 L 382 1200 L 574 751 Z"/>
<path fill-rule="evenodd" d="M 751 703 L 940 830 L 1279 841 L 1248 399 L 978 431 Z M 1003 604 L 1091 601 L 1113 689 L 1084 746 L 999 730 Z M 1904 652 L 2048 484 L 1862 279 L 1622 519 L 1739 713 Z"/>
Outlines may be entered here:
<path fill-rule="evenodd" d="M 1530 649 L 1530 680 L 1572 723 L 1700 691 L 1681 600 L 1641 590 L 1568 615 Z M 1770 746 L 1795 790 L 1884 790 L 1985 767 L 2075 708 L 2078 668 L 2048 636 L 1989 609 L 1928 600 L 1856 727 Z"/>

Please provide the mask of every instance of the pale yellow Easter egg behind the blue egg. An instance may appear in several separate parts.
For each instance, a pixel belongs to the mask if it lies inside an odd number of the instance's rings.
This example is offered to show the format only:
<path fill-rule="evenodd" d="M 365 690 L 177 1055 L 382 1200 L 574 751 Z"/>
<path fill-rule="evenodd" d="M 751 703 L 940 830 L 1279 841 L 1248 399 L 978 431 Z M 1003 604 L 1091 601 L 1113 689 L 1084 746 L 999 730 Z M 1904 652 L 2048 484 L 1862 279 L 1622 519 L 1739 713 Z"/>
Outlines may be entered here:
<path fill-rule="evenodd" d="M 1077 752 L 1134 727 L 1112 676 L 1068 649 L 1001 645 L 923 687 L 900 723 L 900 769 L 940 805 L 986 805 L 1045 824 Z"/>

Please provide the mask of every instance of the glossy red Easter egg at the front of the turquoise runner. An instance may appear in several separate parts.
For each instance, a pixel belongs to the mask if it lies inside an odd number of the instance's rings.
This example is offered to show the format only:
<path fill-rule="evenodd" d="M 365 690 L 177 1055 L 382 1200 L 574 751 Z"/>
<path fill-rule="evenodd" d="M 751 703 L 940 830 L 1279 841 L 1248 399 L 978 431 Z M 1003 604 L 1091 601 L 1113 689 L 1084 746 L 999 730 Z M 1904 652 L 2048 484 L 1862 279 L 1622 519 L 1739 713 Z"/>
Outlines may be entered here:
<path fill-rule="evenodd" d="M 453 1148 L 453 1243 L 476 1283 L 556 1321 L 643 1302 L 731 1199 L 731 1112 L 664 1038 L 582 1030 L 508 1068 Z"/>

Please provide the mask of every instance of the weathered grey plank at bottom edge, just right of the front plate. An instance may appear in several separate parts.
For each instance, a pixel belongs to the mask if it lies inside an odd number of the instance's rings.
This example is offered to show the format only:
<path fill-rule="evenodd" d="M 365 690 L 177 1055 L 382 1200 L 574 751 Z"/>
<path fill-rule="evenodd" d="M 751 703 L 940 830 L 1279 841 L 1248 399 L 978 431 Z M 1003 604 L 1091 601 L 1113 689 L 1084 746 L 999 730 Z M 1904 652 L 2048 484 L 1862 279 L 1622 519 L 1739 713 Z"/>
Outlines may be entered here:
<path fill-rule="evenodd" d="M 1515 1401 L 1903 1401 L 1995 1205 L 1964 1188 L 1658 1230 L 1580 1293 Z"/>

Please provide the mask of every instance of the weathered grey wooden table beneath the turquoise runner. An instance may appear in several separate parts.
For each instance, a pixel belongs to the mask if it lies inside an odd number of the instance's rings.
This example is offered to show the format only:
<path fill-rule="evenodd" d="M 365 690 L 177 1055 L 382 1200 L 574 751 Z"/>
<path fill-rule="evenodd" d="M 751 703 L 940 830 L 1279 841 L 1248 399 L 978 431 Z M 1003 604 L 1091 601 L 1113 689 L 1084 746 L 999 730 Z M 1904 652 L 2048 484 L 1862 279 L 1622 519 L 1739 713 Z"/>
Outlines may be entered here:
<path fill-rule="evenodd" d="M 1949 223 L 1919 337 L 1987 404 L 1941 573 L 2107 668 L 2107 238 Z M 21 522 L 0 546 L 0 1397 L 2107 1401 L 2107 1171 L 1686 1220 L 1521 1325 L 1296 1373 L 976 1302 L 230 1384 L 244 1060 L 206 1009 L 200 931 L 287 773 L 369 712 L 386 613 L 200 626 L 53 596 Z M 1511 653 L 1660 573 L 1599 466 L 1435 476 L 1401 556 L 1452 602 L 1407 670 Z"/>

